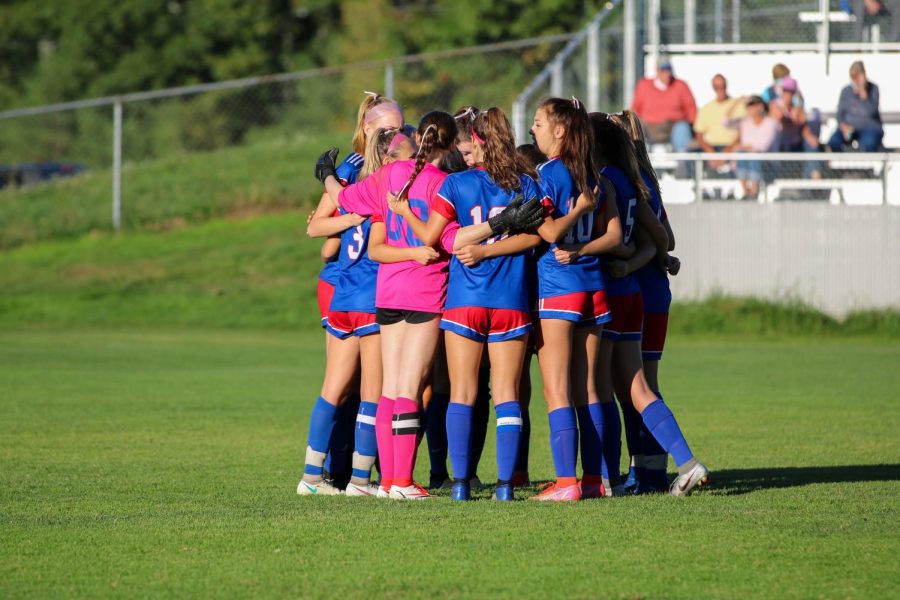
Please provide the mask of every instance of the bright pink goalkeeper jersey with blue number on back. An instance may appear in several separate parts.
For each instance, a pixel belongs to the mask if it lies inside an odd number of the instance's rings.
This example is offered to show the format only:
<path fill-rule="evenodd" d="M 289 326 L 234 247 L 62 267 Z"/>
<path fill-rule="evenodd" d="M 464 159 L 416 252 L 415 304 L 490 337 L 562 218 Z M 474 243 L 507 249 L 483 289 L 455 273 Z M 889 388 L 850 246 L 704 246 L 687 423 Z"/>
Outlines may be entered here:
<path fill-rule="evenodd" d="M 371 216 L 387 229 L 387 245 L 395 248 L 415 248 L 424 244 L 413 234 L 412 228 L 388 208 L 388 192 L 397 193 L 415 168 L 414 160 L 403 160 L 381 167 L 362 182 L 345 187 L 338 196 L 341 208 L 358 215 Z M 409 206 L 423 221 L 428 221 L 431 206 L 447 174 L 428 163 L 409 190 Z M 446 249 L 450 228 L 445 230 L 441 247 Z M 440 251 L 440 249 L 439 249 Z M 440 313 L 447 296 L 447 265 L 449 256 L 438 262 L 420 265 L 414 260 L 381 264 L 375 288 L 375 306 L 395 310 L 417 310 Z"/>

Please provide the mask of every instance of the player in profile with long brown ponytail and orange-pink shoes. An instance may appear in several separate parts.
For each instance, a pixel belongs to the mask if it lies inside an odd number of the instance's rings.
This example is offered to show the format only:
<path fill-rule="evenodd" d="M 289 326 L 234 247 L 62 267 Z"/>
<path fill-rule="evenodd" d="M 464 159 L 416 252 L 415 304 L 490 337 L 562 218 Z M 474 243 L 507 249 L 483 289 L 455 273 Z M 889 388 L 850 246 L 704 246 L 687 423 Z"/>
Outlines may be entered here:
<path fill-rule="evenodd" d="M 544 248 L 537 261 L 536 347 L 556 471 L 556 481 L 532 499 L 599 497 L 601 449 L 593 422 L 581 423 L 585 470 L 582 485 L 576 478 L 578 422 L 573 398 L 580 406 L 587 405 L 594 387 L 597 337 L 600 326 L 610 318 L 603 275 L 595 255 L 570 255 L 571 260 L 563 263 L 555 253 L 559 242 L 575 244 L 593 239 L 598 212 L 606 214 L 594 198 L 596 170 L 587 112 L 575 98 L 549 98 L 535 112 L 531 133 L 538 149 L 550 157 L 538 168 L 549 213 L 538 234 L 550 246 Z M 614 231 L 602 238 L 607 243 L 618 243 Z"/>

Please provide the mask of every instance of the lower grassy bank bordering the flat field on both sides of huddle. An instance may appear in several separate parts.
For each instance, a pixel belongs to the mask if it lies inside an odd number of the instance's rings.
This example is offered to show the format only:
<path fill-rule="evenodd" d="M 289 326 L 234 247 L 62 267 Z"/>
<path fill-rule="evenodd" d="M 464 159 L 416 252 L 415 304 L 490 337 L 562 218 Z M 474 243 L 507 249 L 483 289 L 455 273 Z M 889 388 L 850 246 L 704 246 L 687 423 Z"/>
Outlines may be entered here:
<path fill-rule="evenodd" d="M 0 252 L 0 325 L 315 328 L 322 263 L 305 224 L 305 211 L 285 210 Z M 713 298 L 677 305 L 670 330 L 900 337 L 900 313 L 841 323 L 799 305 Z"/>

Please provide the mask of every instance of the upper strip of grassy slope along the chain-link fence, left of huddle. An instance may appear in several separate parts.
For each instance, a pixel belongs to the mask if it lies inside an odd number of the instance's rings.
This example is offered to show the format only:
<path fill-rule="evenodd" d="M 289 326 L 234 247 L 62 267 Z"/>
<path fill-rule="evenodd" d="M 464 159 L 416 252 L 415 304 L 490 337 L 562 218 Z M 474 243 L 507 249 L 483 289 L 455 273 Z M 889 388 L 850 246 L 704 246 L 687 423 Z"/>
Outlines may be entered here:
<path fill-rule="evenodd" d="M 348 135 L 284 136 L 215 152 L 126 163 L 122 226 L 159 230 L 233 213 L 309 207 L 321 185 L 312 177 L 329 146 L 349 149 Z M 92 171 L 0 191 L 0 249 L 72 238 L 112 228 L 112 174 Z"/>

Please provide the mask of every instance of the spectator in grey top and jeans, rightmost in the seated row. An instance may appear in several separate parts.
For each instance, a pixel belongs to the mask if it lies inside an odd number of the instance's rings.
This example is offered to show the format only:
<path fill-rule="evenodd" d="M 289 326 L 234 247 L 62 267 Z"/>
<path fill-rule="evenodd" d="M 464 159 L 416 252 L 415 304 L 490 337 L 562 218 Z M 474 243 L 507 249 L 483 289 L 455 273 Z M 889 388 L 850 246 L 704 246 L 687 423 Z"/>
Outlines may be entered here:
<path fill-rule="evenodd" d="M 838 129 L 828 140 L 834 152 L 841 152 L 853 142 L 863 152 L 881 149 L 884 128 L 878 110 L 878 86 L 866 78 L 862 61 L 850 65 L 850 85 L 841 90 L 838 100 Z"/>

